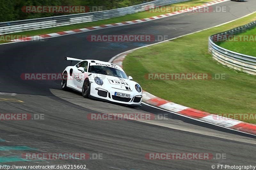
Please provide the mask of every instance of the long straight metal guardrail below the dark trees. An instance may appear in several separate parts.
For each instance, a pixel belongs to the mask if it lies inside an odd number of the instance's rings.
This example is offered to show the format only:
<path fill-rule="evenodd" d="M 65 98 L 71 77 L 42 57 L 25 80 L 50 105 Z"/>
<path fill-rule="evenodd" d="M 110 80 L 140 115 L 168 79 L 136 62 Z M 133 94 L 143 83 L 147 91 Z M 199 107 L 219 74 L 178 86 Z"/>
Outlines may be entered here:
<path fill-rule="evenodd" d="M 149 6 L 162 6 L 185 2 L 188 0 L 156 0 L 134 6 L 118 8 L 107 11 L 87 12 L 72 15 L 62 15 L 56 17 L 36 18 L 19 21 L 1 22 L 0 35 L 17 33 L 28 30 L 51 28 L 55 26 L 66 26 L 84 22 L 98 21 L 113 17 L 119 17 L 127 14 L 132 14 L 140 11 L 146 11 Z"/>

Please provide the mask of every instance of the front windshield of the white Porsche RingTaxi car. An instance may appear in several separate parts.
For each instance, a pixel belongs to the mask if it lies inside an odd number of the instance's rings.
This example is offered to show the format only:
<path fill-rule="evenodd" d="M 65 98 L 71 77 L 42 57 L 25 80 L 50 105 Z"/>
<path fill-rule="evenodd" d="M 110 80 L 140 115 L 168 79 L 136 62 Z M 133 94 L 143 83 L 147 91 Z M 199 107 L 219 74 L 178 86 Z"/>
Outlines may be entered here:
<path fill-rule="evenodd" d="M 89 67 L 88 72 L 128 79 L 124 71 L 107 66 L 92 65 Z"/>

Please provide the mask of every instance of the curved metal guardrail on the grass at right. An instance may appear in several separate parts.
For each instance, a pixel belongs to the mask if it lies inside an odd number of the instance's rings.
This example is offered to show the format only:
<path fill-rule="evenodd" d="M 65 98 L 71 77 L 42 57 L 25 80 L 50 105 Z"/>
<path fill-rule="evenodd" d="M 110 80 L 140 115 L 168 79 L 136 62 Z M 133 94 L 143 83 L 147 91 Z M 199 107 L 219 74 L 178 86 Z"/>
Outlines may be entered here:
<path fill-rule="evenodd" d="M 236 35 L 254 27 L 256 27 L 256 21 L 210 36 L 208 41 L 208 50 L 212 54 L 212 58 L 232 69 L 256 75 L 256 57 L 236 53 L 214 43 L 218 37 Z"/>

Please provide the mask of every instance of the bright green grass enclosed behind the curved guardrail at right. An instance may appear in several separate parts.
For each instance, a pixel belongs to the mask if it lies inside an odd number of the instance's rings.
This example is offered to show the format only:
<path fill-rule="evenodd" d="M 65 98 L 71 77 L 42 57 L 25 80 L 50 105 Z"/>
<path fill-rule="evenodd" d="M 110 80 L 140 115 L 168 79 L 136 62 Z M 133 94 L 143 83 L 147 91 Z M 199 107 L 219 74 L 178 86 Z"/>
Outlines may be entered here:
<path fill-rule="evenodd" d="M 256 27 L 238 35 L 252 35 L 256 37 Z M 256 42 L 255 41 L 224 41 L 217 43 L 220 47 L 242 53 L 246 55 L 256 56 Z"/>

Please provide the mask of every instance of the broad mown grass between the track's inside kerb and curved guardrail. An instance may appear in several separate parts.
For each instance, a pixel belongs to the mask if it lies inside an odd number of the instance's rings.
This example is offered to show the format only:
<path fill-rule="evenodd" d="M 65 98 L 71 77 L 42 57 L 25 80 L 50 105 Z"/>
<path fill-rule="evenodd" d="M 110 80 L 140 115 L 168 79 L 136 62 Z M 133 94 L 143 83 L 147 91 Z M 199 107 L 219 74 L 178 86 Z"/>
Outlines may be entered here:
<path fill-rule="evenodd" d="M 208 37 L 256 20 L 256 14 L 232 23 L 141 48 L 126 56 L 127 75 L 160 98 L 212 114 L 256 114 L 256 77 L 212 59 Z M 225 74 L 224 80 L 148 80 L 148 73 Z M 256 123 L 255 120 L 246 122 Z"/>

